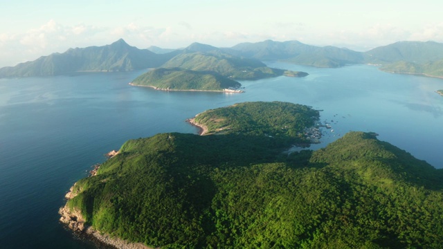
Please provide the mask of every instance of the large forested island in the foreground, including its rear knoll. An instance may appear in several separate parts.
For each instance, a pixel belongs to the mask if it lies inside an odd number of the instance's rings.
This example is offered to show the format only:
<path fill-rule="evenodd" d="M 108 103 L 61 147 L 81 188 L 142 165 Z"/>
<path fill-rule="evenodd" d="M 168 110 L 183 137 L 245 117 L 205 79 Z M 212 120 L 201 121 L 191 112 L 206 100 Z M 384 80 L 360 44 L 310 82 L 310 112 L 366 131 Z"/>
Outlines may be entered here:
<path fill-rule="evenodd" d="M 441 248 L 442 170 L 374 133 L 282 153 L 317 119 L 248 102 L 197 115 L 207 136 L 129 140 L 75 183 L 61 221 L 141 248 Z"/>

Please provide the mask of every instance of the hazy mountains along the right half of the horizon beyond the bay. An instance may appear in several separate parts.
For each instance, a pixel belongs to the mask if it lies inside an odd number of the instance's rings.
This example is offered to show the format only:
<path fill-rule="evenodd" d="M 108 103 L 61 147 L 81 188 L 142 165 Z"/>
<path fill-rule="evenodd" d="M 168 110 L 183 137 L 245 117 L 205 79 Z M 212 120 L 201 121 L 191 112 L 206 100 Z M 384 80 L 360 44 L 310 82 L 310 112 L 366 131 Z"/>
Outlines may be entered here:
<path fill-rule="evenodd" d="M 443 44 L 437 42 L 397 42 L 365 53 L 334 46 L 309 46 L 297 41 L 244 43 L 226 53 L 262 60 L 335 68 L 347 64 L 380 64 L 381 70 L 443 76 Z"/>

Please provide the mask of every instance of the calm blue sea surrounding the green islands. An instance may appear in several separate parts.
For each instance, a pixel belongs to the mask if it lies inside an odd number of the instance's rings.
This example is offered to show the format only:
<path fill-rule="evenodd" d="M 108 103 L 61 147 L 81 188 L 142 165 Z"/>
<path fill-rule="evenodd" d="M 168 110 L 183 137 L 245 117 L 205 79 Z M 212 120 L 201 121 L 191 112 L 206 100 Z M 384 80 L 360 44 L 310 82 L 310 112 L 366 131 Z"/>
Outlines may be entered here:
<path fill-rule="evenodd" d="M 307 104 L 332 125 L 320 145 L 347 131 L 379 139 L 443 168 L 443 80 L 374 66 L 311 68 L 304 78 L 241 82 L 246 93 L 163 92 L 129 86 L 144 71 L 0 80 L 0 248 L 96 248 L 58 222 L 64 194 L 128 139 L 196 133 L 187 118 L 246 101 Z"/>

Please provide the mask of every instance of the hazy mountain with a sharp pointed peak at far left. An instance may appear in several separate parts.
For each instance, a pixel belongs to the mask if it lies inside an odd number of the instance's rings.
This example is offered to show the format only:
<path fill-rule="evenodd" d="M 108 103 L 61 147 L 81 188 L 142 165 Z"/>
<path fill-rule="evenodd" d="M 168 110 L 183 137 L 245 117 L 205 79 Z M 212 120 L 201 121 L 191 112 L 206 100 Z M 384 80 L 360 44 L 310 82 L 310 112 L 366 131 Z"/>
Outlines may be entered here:
<path fill-rule="evenodd" d="M 70 48 L 65 53 L 39 57 L 33 62 L 0 68 L 0 77 L 63 75 L 78 71 L 132 71 L 158 67 L 177 52 L 157 55 L 129 46 L 123 39 L 106 46 Z"/>

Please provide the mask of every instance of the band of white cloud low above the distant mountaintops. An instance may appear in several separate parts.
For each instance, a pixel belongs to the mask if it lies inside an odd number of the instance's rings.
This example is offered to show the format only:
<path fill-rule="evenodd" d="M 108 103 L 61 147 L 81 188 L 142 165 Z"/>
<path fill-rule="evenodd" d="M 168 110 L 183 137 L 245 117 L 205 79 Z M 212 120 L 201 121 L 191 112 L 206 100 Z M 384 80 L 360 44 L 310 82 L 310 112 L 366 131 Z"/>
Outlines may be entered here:
<path fill-rule="evenodd" d="M 369 50 L 402 40 L 443 42 L 443 23 L 416 30 L 406 30 L 391 24 L 375 24 L 364 30 L 320 31 L 308 23 L 275 22 L 260 28 L 233 26 L 233 29 L 201 31 L 187 22 L 172 26 L 145 26 L 133 21 L 119 27 L 98 27 L 87 24 L 66 26 L 53 19 L 24 33 L 0 33 L 0 67 L 37 59 L 42 55 L 63 53 L 68 48 L 103 46 L 123 38 L 132 46 L 147 48 L 180 48 L 192 42 L 213 46 L 233 46 L 242 42 L 298 40 L 318 46 L 346 46 L 350 49 Z"/>

